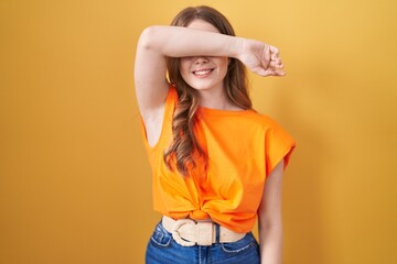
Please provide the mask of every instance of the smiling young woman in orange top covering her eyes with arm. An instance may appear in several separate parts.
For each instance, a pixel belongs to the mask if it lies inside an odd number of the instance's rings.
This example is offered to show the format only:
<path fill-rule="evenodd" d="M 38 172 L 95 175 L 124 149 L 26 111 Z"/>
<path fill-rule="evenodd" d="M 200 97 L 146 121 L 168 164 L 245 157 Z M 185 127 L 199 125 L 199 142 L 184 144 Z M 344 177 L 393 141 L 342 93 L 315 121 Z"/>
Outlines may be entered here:
<path fill-rule="evenodd" d="M 245 67 L 285 75 L 276 47 L 235 36 L 210 7 L 139 38 L 136 92 L 163 215 L 148 264 L 281 263 L 281 177 L 294 141 L 253 110 Z"/>

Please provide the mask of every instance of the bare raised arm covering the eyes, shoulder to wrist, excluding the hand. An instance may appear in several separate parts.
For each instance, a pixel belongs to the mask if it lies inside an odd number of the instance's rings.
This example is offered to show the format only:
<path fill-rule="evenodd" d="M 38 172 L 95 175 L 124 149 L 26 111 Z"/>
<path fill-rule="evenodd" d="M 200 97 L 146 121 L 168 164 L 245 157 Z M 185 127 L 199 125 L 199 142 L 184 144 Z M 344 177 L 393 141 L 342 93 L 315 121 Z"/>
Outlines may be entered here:
<path fill-rule="evenodd" d="M 168 84 L 165 57 L 237 56 L 242 38 L 183 26 L 147 28 L 138 42 L 135 81 L 143 117 L 164 102 Z"/>

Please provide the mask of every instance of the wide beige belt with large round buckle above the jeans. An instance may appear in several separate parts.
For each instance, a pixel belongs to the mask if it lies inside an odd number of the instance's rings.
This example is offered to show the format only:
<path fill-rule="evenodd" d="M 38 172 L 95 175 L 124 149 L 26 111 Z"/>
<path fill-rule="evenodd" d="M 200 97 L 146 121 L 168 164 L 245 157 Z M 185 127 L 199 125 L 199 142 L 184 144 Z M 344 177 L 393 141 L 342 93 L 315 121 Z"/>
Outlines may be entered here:
<path fill-rule="evenodd" d="M 173 220 L 164 216 L 162 224 L 167 231 L 172 233 L 172 238 L 180 245 L 212 245 L 216 243 L 216 223 L 214 222 L 196 222 L 192 219 Z M 236 242 L 245 235 L 246 233 L 237 233 L 219 226 L 219 243 Z"/>

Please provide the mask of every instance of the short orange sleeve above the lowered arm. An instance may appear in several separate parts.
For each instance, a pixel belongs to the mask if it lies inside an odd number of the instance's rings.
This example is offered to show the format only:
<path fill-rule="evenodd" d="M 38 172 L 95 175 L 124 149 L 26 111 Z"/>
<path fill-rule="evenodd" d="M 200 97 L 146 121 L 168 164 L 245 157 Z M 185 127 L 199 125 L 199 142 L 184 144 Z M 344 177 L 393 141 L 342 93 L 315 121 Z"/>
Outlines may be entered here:
<path fill-rule="evenodd" d="M 278 123 L 271 121 L 271 125 L 266 133 L 266 176 L 268 176 L 282 160 L 285 162 L 283 168 L 286 169 L 294 147 L 296 141 L 292 136 Z"/>

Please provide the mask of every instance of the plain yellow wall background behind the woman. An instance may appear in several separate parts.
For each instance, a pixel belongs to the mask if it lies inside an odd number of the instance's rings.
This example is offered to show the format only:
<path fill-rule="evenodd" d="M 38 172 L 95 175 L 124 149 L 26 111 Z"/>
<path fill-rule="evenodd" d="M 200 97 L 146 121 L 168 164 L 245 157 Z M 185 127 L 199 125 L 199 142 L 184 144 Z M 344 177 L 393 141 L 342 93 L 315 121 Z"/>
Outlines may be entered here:
<path fill-rule="evenodd" d="M 143 263 L 136 43 L 201 3 L 281 50 L 251 96 L 298 142 L 283 263 L 397 263 L 397 1 L 0 0 L 1 264 Z"/>

